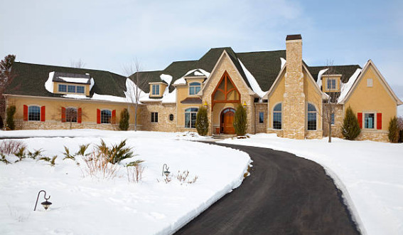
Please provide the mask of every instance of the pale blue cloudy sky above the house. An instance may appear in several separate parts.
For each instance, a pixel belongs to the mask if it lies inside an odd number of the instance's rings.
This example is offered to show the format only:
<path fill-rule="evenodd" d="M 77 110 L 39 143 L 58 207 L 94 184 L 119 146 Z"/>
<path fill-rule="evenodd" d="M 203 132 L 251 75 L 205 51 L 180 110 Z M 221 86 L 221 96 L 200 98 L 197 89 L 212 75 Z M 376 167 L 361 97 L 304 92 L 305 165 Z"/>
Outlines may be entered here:
<path fill-rule="evenodd" d="M 403 97 L 403 1 L 5 1 L 0 57 L 124 75 L 196 60 L 213 47 L 235 52 L 285 48 L 301 33 L 303 59 L 359 64 L 372 59 Z"/>

